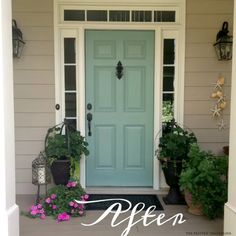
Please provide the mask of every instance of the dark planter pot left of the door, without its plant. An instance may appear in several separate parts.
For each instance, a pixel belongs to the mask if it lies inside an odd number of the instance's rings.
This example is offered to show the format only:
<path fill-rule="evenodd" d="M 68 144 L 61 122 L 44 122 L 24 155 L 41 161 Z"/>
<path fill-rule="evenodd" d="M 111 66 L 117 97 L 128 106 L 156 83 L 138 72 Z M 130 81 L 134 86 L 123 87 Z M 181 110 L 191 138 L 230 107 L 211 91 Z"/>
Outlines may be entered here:
<path fill-rule="evenodd" d="M 66 185 L 70 179 L 70 161 L 56 160 L 51 165 L 51 172 L 56 185 Z"/>

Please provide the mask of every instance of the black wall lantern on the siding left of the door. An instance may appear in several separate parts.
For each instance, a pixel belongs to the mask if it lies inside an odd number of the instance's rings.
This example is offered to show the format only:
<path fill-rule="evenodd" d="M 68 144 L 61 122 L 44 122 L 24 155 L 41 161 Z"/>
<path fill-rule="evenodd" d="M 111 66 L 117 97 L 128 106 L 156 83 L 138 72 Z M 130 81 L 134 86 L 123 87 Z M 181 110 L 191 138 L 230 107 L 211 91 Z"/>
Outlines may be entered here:
<path fill-rule="evenodd" d="M 12 20 L 13 57 L 20 58 L 24 45 L 25 42 L 23 41 L 23 34 L 21 30 L 17 27 L 16 20 Z"/>

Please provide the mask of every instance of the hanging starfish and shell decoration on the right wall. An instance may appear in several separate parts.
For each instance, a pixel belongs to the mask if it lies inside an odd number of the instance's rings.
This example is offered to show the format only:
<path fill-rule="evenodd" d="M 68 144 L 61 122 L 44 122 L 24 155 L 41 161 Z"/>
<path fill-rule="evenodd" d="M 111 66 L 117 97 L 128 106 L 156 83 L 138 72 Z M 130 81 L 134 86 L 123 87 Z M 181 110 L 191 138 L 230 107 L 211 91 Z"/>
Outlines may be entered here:
<path fill-rule="evenodd" d="M 212 118 L 217 120 L 217 126 L 219 130 L 225 129 L 226 124 L 224 122 L 224 109 L 226 108 L 226 101 L 224 95 L 224 84 L 225 78 L 219 76 L 216 83 L 214 83 L 214 88 L 211 94 L 211 98 L 215 99 L 215 104 L 211 109 Z"/>

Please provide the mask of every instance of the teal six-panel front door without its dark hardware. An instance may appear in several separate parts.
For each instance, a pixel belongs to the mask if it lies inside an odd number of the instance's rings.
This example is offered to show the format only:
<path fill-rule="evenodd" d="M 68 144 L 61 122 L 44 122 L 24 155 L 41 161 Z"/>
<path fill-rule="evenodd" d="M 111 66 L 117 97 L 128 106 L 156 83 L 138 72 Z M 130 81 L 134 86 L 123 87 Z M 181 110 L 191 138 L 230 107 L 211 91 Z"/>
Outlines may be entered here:
<path fill-rule="evenodd" d="M 153 63 L 153 31 L 86 31 L 87 186 L 152 186 Z"/>

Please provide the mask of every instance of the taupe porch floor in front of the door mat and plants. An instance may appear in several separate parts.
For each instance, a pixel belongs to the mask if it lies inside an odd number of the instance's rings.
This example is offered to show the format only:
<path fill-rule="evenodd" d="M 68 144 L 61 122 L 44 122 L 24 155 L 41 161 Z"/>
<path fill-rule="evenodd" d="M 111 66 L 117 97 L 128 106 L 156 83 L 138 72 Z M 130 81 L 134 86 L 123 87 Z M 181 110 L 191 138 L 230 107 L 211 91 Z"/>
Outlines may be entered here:
<path fill-rule="evenodd" d="M 208 220 L 204 216 L 194 216 L 187 212 L 187 206 L 177 206 L 177 205 L 165 205 L 162 201 L 162 195 L 159 195 L 159 199 L 164 208 L 164 211 L 158 211 L 154 214 L 157 216 L 160 213 L 165 213 L 168 219 L 177 213 L 183 213 L 186 220 L 185 223 L 181 225 L 172 226 L 173 220 L 162 225 L 157 226 L 153 223 L 147 227 L 143 226 L 142 222 L 139 222 L 131 228 L 129 236 L 132 235 L 163 235 L 163 236 L 185 236 L 185 235 L 221 235 L 223 231 L 223 219 L 216 219 L 213 221 Z M 17 204 L 21 211 L 26 211 L 34 203 L 35 196 L 32 195 L 18 195 Z M 98 219 L 98 217 L 103 213 L 103 211 L 87 211 L 86 216 L 81 218 L 72 218 L 68 222 L 57 223 L 51 217 L 47 217 L 45 220 L 40 219 L 30 219 L 25 216 L 20 216 L 20 236 L 120 236 L 124 229 L 127 227 L 128 221 L 122 223 L 121 225 L 112 228 L 111 220 L 113 215 L 107 216 L 100 223 L 85 227 L 81 223 L 92 223 Z M 144 214 L 139 213 L 135 219 L 138 220 Z M 125 217 L 126 214 L 119 219 L 119 221 Z M 154 218 L 153 218 L 154 219 Z M 151 221 L 150 218 L 148 221 Z"/>

